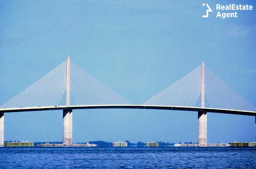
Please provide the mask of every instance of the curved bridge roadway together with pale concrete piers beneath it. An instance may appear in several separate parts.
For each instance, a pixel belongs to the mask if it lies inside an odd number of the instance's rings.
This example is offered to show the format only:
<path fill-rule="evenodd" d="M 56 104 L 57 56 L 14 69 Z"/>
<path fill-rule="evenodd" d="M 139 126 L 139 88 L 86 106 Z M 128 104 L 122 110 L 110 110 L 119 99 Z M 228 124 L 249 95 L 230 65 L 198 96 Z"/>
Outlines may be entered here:
<path fill-rule="evenodd" d="M 224 113 L 232 115 L 247 115 L 255 116 L 255 141 L 256 141 L 256 112 L 242 111 L 242 110 L 229 110 L 229 109 L 213 109 L 202 107 L 184 107 L 184 106 L 159 106 L 159 105 L 78 105 L 78 106 L 46 106 L 46 107 L 20 107 L 0 109 L 0 128 L 3 129 L 3 115 L 4 113 L 11 112 L 32 112 L 32 111 L 47 111 L 47 110 L 63 110 L 63 142 L 66 144 L 72 143 L 72 112 L 75 109 L 155 109 L 155 110 L 179 110 L 179 111 L 192 111 L 198 112 L 198 140 L 200 137 L 207 139 L 207 122 L 200 121 L 201 116 L 211 113 Z M 203 116 L 204 117 L 204 116 Z M 2 122 L 1 122 L 2 120 Z M 203 133 L 203 134 L 201 134 Z M 203 136 L 200 136 L 203 135 Z M 4 132 L 0 130 L 0 136 L 3 137 Z M 204 141 L 206 145 L 207 142 Z M 201 145 L 204 145 L 201 144 Z"/>

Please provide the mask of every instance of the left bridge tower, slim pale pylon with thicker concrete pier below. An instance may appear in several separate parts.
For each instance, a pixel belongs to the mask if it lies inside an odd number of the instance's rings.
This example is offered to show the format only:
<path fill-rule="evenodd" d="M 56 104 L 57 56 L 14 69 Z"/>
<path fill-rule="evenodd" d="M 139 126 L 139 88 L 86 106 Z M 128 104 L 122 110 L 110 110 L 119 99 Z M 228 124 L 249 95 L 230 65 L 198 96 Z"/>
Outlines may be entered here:
<path fill-rule="evenodd" d="M 66 61 L 66 106 L 70 106 L 70 58 Z M 72 109 L 63 110 L 63 144 L 72 144 Z"/>

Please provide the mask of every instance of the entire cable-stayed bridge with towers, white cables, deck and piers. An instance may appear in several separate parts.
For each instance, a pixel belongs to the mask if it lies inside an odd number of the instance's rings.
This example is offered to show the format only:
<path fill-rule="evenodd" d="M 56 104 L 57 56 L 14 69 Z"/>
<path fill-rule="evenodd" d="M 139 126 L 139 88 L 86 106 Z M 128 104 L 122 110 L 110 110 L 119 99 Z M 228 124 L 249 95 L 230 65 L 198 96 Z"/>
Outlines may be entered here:
<path fill-rule="evenodd" d="M 66 92 L 66 105 L 59 105 Z M 70 104 L 70 94 L 76 104 Z M 209 106 L 205 106 L 205 96 Z M 200 105 L 198 104 L 200 98 Z M 4 141 L 4 113 L 44 110 L 63 111 L 63 144 L 72 144 L 72 112 L 75 109 L 161 109 L 198 113 L 198 144 L 207 144 L 207 112 L 255 117 L 256 108 L 233 91 L 217 75 L 200 66 L 143 104 L 128 100 L 96 80 L 70 58 L 40 80 L 0 106 L 0 146 Z"/>

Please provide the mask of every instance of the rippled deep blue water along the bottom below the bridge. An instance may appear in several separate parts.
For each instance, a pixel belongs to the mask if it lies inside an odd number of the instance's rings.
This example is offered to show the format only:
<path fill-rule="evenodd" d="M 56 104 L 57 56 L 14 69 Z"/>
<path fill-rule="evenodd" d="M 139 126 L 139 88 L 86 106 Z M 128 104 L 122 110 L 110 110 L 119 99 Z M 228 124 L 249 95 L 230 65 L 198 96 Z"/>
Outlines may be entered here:
<path fill-rule="evenodd" d="M 256 148 L 0 148 L 0 169 L 255 168 Z"/>

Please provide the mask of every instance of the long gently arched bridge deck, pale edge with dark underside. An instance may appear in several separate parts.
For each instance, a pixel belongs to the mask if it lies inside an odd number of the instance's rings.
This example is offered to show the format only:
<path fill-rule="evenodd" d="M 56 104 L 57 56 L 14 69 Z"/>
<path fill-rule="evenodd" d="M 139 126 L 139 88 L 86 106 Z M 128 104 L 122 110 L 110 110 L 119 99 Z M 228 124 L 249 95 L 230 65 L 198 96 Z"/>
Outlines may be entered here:
<path fill-rule="evenodd" d="M 20 107 L 0 109 L 0 112 L 31 112 L 44 110 L 66 110 L 66 109 L 159 109 L 159 110 L 181 110 L 193 112 L 212 112 L 225 113 L 233 115 L 247 115 L 256 116 L 256 112 L 242 111 L 242 110 L 228 110 L 228 109 L 212 109 L 201 107 L 180 107 L 180 106 L 157 106 L 157 105 L 79 105 L 79 106 L 49 106 L 49 107 Z"/>

